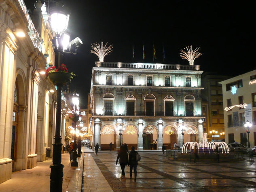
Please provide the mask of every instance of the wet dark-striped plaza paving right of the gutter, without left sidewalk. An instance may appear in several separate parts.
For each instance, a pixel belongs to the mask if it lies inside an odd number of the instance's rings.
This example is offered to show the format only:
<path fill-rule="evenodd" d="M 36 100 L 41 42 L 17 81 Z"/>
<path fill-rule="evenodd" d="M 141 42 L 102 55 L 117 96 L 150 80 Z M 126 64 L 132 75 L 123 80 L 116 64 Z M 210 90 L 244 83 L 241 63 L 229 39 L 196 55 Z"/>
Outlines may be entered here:
<path fill-rule="evenodd" d="M 85 153 L 84 191 L 256 191 L 256 163 L 184 162 L 167 160 L 162 152 L 140 152 L 137 181 L 121 181 L 121 167 L 116 152 Z M 93 169 L 89 168 L 93 164 Z M 87 165 L 86 165 L 87 164 Z M 92 166 L 92 165 L 91 165 Z M 86 168 L 87 167 L 87 168 Z M 96 169 L 97 168 L 97 169 Z M 93 171 L 94 170 L 94 171 Z M 96 171 L 97 170 L 97 171 Z M 89 177 L 94 177 L 89 181 Z M 89 184 L 88 184 L 89 182 Z"/>

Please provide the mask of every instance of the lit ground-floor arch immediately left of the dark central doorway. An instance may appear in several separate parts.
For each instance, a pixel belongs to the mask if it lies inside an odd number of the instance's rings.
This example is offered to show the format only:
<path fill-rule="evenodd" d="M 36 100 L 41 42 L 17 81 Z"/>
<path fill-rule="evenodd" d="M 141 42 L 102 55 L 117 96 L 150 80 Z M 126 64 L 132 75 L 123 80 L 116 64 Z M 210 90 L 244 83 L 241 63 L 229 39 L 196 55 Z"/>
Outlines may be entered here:
<path fill-rule="evenodd" d="M 138 149 L 138 129 L 134 125 L 127 125 L 125 131 L 123 131 L 123 143 L 126 143 L 128 150 L 131 150 L 131 147 L 134 146 L 135 149 Z"/>

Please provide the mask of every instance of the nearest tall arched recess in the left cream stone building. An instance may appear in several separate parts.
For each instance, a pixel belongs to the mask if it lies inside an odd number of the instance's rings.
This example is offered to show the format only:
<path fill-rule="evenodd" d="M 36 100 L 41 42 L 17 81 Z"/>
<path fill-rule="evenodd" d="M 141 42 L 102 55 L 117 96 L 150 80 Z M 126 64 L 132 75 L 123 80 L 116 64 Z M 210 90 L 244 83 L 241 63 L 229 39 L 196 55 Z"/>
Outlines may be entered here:
<path fill-rule="evenodd" d="M 26 101 L 26 86 L 25 86 L 25 74 L 22 70 L 17 71 L 17 77 L 15 81 L 17 103 L 16 110 L 17 114 L 15 122 L 16 125 L 12 131 L 12 147 L 13 148 L 13 169 L 12 171 L 19 171 L 27 169 L 26 159 L 28 158 L 28 150 L 26 138 L 24 135 L 27 133 L 27 126 L 25 120 L 25 113 L 27 108 Z M 14 118 L 14 117 L 13 117 Z"/>

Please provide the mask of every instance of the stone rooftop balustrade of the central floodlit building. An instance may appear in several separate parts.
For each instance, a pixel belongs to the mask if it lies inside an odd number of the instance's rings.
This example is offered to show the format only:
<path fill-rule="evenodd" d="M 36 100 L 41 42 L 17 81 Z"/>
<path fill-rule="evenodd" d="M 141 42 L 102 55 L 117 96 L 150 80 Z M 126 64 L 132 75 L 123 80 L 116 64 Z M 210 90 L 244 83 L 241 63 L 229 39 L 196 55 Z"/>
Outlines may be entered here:
<path fill-rule="evenodd" d="M 96 67 L 102 68 L 135 68 L 135 69 L 160 69 L 160 70 L 200 70 L 200 65 L 172 65 L 161 63 L 121 63 L 121 62 L 95 62 Z"/>

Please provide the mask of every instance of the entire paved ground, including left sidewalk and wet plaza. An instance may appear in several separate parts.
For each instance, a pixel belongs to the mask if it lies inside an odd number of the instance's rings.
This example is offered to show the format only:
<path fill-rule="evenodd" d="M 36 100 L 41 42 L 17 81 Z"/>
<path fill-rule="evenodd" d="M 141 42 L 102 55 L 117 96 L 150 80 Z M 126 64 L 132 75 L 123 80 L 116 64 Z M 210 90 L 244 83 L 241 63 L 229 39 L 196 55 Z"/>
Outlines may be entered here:
<path fill-rule="evenodd" d="M 117 153 L 98 152 L 84 148 L 78 158 L 78 167 L 71 167 L 69 155 L 62 154 L 63 192 L 117 192 L 117 191 L 256 191 L 256 163 L 240 162 L 184 162 L 166 159 L 160 151 L 142 152 L 137 167 L 137 181 L 129 179 L 129 167 L 125 168 L 126 181 L 121 181 Z M 16 171 L 12 179 L 0 184 L 0 192 L 48 192 L 52 159 L 38 162 L 33 169 Z M 1 177 L 1 175 L 0 175 Z"/>

